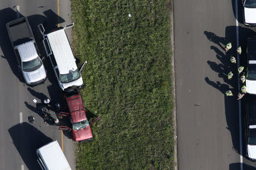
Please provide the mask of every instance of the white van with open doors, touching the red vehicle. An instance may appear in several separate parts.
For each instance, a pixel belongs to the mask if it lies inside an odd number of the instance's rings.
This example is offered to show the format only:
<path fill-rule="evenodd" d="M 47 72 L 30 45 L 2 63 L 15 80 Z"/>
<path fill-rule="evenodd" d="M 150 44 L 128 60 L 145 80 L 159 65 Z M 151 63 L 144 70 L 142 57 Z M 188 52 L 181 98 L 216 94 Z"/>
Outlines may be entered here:
<path fill-rule="evenodd" d="M 68 24 L 64 28 L 59 27 L 48 33 L 44 33 L 42 24 L 38 25 L 38 29 L 43 35 L 44 49 L 51 60 L 59 86 L 63 91 L 79 90 L 84 87 L 80 73 L 82 68 L 77 69 L 76 58 L 65 33 L 65 29 L 73 27 L 73 25 L 74 23 Z"/>

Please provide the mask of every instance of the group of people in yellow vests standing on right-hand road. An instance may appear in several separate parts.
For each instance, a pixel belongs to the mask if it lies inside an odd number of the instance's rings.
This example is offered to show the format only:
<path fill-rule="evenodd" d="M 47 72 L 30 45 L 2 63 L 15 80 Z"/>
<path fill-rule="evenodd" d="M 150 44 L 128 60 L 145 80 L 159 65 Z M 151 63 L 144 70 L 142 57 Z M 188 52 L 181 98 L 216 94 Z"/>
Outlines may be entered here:
<path fill-rule="evenodd" d="M 230 50 L 231 48 L 232 48 L 231 42 L 226 44 L 226 46 L 225 46 L 226 52 L 228 52 L 228 50 Z M 238 54 L 242 53 L 241 46 L 239 46 L 237 48 L 237 53 Z M 234 56 L 230 56 L 230 62 L 231 63 L 237 63 L 236 58 Z M 237 100 L 242 99 L 242 97 L 246 94 L 246 86 L 244 84 L 245 83 L 245 73 L 243 73 L 243 69 L 245 69 L 245 67 L 244 66 L 240 66 L 240 67 L 238 67 L 238 70 L 237 70 L 238 71 L 238 75 L 240 76 L 241 83 L 242 83 L 241 92 L 238 92 Z M 227 75 L 228 79 L 229 80 L 232 79 L 233 75 L 234 74 L 232 73 L 232 71 L 230 71 L 228 73 L 228 75 Z M 226 91 L 226 96 L 233 96 L 233 92 L 231 90 Z"/>

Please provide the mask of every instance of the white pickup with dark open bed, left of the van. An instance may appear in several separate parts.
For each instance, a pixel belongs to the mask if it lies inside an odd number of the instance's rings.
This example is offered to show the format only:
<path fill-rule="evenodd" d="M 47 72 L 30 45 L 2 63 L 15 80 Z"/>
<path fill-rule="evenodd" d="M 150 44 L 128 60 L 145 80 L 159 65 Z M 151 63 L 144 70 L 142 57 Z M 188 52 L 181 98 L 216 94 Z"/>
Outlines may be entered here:
<path fill-rule="evenodd" d="M 46 80 L 46 69 L 26 17 L 6 24 L 19 68 L 27 84 L 36 85 Z"/>

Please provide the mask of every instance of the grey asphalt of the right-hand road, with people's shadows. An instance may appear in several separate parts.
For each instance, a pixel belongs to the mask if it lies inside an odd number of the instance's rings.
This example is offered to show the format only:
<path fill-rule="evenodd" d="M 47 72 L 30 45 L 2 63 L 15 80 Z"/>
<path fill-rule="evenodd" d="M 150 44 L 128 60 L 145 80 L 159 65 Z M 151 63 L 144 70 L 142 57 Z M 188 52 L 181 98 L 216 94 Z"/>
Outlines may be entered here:
<path fill-rule="evenodd" d="M 246 38 L 255 36 L 256 29 L 243 25 L 241 1 L 237 4 L 244 52 Z M 236 56 L 236 28 L 236 0 L 174 1 L 179 169 L 240 169 L 237 65 L 229 61 Z M 233 48 L 225 53 L 228 42 Z M 232 80 L 224 75 L 229 71 L 235 73 Z M 235 97 L 226 97 L 226 90 Z M 242 168 L 255 169 L 244 154 L 243 149 Z"/>

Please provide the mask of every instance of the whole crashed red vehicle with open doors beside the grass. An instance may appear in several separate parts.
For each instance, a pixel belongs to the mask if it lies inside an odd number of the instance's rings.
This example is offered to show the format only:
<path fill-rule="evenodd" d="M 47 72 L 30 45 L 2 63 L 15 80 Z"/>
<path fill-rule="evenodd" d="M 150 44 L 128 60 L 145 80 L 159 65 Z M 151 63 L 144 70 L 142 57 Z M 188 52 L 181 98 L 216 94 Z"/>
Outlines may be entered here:
<path fill-rule="evenodd" d="M 67 101 L 69 113 L 61 112 L 59 116 L 69 116 L 72 128 L 60 126 L 60 130 L 72 130 L 73 141 L 85 142 L 93 139 L 92 130 L 86 118 L 84 103 L 79 92 L 72 95 L 64 95 Z"/>

